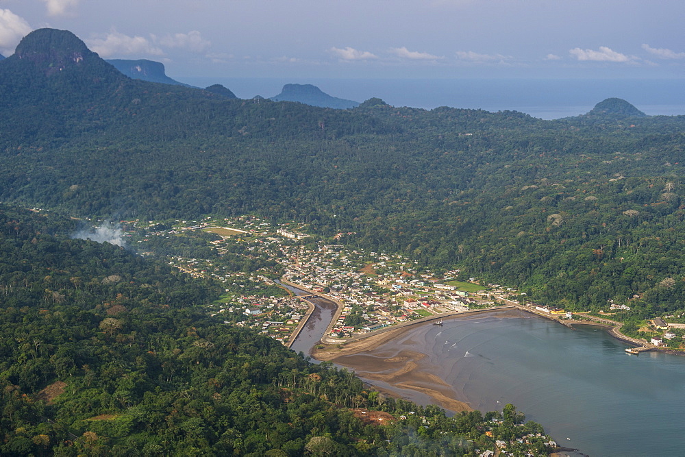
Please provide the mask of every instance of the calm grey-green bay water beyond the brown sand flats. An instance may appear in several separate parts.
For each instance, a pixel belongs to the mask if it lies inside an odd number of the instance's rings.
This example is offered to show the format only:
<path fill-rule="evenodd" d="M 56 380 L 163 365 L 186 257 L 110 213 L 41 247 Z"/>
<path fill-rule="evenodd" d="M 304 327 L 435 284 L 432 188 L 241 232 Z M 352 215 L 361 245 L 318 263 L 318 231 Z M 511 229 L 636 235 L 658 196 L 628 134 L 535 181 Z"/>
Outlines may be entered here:
<path fill-rule="evenodd" d="M 412 338 L 423 338 L 460 399 L 484 411 L 512 403 L 560 445 L 590 456 L 685 454 L 685 357 L 632 356 L 597 328 L 496 314 Z"/>

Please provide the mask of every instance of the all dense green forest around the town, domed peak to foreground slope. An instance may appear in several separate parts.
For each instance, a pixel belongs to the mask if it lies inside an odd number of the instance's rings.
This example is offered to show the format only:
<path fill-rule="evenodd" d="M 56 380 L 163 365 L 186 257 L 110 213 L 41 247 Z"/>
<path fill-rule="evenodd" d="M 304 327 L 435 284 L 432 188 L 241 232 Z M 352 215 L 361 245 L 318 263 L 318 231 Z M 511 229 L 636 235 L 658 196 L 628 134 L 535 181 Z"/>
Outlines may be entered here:
<path fill-rule="evenodd" d="M 0 112 L 4 455 L 469 455 L 541 432 L 514 428 L 513 407 L 449 419 L 379 401 L 197 311 L 213 282 L 73 240 L 68 217 L 258 214 L 548 306 L 623 304 L 624 330 L 685 310 L 685 116 L 619 99 L 556 121 L 230 99 L 129 79 L 54 29 L 0 62 Z M 18 209 L 34 207 L 50 212 Z M 361 406 L 406 419 L 365 424 Z"/>

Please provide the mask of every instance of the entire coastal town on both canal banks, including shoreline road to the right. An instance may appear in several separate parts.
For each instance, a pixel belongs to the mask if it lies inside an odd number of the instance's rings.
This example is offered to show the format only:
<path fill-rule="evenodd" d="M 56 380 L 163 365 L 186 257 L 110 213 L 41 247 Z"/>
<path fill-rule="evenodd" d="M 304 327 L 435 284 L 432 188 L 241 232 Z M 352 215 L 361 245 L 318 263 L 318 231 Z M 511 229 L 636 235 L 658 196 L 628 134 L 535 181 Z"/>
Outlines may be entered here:
<path fill-rule="evenodd" d="M 673 341 L 680 345 L 685 338 L 684 324 L 666 323 L 660 317 L 650 322 L 649 330 L 656 332 L 651 338 L 630 338 L 621 334 L 619 322 L 610 319 L 614 312 L 630 310 L 625 304 L 610 302 L 597 316 L 536 304 L 515 288 L 461 277 L 458 269 L 438 275 L 419 269 L 406 256 L 349 249 L 344 242 L 351 233 L 322 239 L 306 233 L 305 224 L 275 224 L 252 216 L 122 223 L 125 237 L 140 254 L 162 251 L 180 271 L 225 286 L 221 299 L 207 305 L 211 317 L 227 325 L 261 330 L 288 346 L 314 308 L 309 299 L 316 296 L 338 306 L 324 336 L 329 343 L 370 336 L 412 321 L 439 325 L 442 317 L 501 306 L 522 308 L 565 325 L 610 327 L 614 336 L 636 346 L 627 349 L 631 354 L 669 343 L 674 347 Z M 175 246 L 179 240 L 191 246 L 174 247 L 171 254 L 160 249 Z M 292 293 L 293 288 L 299 295 Z"/>

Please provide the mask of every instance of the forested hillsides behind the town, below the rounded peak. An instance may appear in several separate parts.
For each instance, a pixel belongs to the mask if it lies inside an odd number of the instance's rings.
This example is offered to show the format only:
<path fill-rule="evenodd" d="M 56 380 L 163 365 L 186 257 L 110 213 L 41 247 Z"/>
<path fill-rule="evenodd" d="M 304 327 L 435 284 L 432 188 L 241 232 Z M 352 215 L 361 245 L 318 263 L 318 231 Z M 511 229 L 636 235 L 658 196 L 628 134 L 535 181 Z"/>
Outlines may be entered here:
<path fill-rule="evenodd" d="M 99 63 L 65 66 L 64 82 L 46 68 L 0 64 L 4 200 L 145 219 L 258 212 L 547 304 L 685 306 L 684 116 L 616 100 L 558 121 L 381 100 L 331 110 L 132 81 Z"/>

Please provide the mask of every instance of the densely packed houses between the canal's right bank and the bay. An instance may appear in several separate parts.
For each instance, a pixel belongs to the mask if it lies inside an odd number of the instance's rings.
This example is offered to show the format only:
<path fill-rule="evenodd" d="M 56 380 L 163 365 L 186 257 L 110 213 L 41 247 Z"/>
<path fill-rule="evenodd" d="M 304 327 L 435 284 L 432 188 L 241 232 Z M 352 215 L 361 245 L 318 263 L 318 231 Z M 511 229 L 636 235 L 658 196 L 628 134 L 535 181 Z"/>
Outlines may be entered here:
<path fill-rule="evenodd" d="M 345 305 L 331 332 L 333 338 L 373 332 L 443 312 L 490 306 L 495 304 L 489 298 L 490 294 L 511 293 L 459 291 L 456 286 L 438 282 L 429 274 L 419 275 L 413 263 L 399 255 L 366 254 L 361 250 L 348 252 L 342 245 L 323 244 L 316 251 L 287 245 L 282 245 L 282 250 L 285 256 L 281 262 L 288 281 L 327 293 Z M 458 273 L 458 270 L 450 271 L 445 278 L 456 277 Z M 351 323 L 348 319 L 351 314 L 361 319 Z"/>

